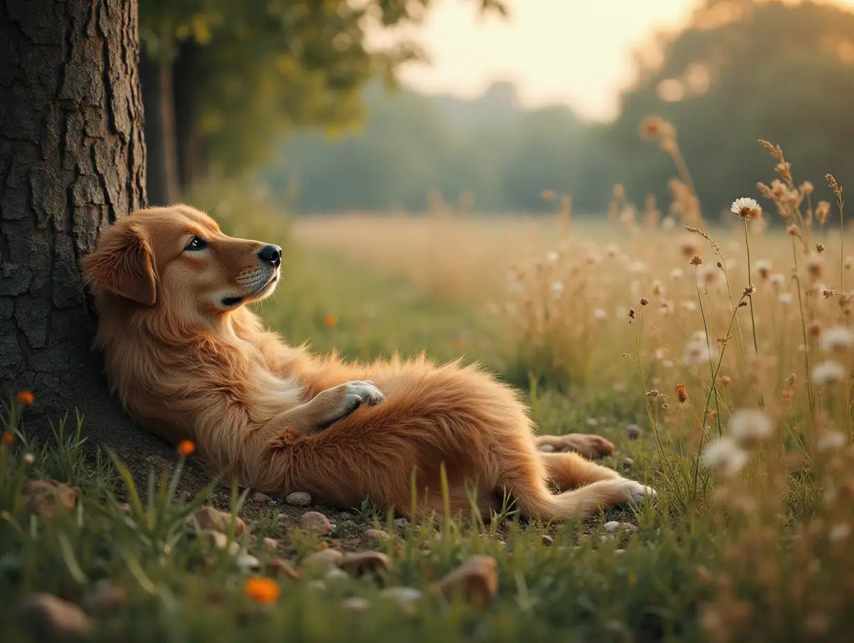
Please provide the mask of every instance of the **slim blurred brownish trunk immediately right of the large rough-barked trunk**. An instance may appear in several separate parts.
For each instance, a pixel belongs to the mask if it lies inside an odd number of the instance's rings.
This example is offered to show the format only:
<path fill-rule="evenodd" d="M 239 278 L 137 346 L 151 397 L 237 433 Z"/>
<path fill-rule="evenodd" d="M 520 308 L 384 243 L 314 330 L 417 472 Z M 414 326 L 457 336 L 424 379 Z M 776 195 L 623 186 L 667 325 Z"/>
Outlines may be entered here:
<path fill-rule="evenodd" d="M 155 61 L 144 54 L 139 64 L 148 148 L 146 187 L 153 206 L 172 205 L 180 194 L 172 69 L 171 62 Z"/>

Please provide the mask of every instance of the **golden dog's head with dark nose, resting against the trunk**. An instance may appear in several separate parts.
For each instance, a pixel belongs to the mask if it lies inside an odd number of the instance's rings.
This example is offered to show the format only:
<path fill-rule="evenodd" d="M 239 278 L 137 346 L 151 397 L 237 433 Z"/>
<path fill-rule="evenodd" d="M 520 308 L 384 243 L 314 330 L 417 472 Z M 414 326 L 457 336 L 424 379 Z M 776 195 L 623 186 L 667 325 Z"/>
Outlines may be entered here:
<path fill-rule="evenodd" d="M 282 248 L 228 237 L 185 205 L 138 210 L 106 231 L 83 259 L 87 282 L 145 307 L 216 315 L 270 295 Z"/>

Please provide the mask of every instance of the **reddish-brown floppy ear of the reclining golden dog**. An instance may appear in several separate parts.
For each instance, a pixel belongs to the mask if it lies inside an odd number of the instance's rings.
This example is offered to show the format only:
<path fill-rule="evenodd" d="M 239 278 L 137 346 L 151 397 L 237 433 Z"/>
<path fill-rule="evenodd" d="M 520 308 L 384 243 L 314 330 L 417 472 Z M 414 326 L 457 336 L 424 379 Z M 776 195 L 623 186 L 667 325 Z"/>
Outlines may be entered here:
<path fill-rule="evenodd" d="M 83 276 L 116 295 L 154 306 L 157 278 L 151 247 L 132 224 L 114 225 L 104 233 L 95 252 L 83 258 Z"/>

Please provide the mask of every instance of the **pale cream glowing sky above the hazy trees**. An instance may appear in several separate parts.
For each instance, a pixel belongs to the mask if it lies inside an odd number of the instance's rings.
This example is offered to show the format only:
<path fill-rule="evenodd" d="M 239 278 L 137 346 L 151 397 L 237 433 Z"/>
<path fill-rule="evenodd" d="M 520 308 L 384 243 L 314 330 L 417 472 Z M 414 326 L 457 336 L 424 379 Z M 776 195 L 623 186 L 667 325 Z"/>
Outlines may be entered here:
<path fill-rule="evenodd" d="M 632 53 L 659 30 L 683 26 L 697 0 L 506 0 L 510 19 L 479 15 L 477 0 L 433 0 L 407 29 L 430 56 L 401 73 L 426 93 L 474 97 L 512 80 L 526 107 L 570 105 L 593 120 L 617 113 Z M 854 0 L 836 0 L 854 6 Z"/>

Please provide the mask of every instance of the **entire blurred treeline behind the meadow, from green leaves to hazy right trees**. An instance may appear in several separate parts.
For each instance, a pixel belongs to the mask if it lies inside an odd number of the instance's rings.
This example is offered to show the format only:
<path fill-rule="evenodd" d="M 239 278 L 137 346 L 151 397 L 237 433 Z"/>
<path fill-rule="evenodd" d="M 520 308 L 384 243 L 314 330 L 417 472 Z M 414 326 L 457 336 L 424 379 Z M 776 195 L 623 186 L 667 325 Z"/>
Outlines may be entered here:
<path fill-rule="evenodd" d="M 159 2 L 140 0 L 143 27 L 150 23 L 145 7 Z M 395 25 L 418 13 L 413 5 L 430 3 L 361 4 L 377 24 Z M 595 213 L 620 183 L 629 201 L 642 206 L 653 194 L 666 209 L 676 170 L 669 155 L 639 135 L 651 114 L 676 126 L 707 218 L 716 219 L 735 197 L 757 196 L 758 180 L 775 178 L 759 138 L 781 144 L 796 179 L 816 184 L 816 198 L 829 197 L 827 172 L 843 186 L 854 180 L 854 14 L 837 5 L 699 3 L 681 32 L 660 34 L 639 53 L 636 82 L 607 124 L 564 107 L 520 108 L 508 84 L 473 101 L 389 93 L 378 77 L 393 82 L 399 65 L 418 56 L 413 44 L 368 50 L 368 18 L 343 0 L 270 0 L 257 3 L 252 17 L 255 5 L 225 5 L 240 20 L 194 18 L 179 32 L 161 25 L 172 36 L 160 41 L 143 28 L 149 58 L 168 61 L 176 97 L 186 91 L 175 80 L 188 75 L 179 71 L 184 61 L 202 61 L 204 73 L 190 74 L 199 85 L 195 127 L 184 126 L 196 142 L 177 155 L 178 164 L 195 159 L 193 172 L 178 171 L 184 188 L 246 173 L 300 212 L 423 211 L 436 198 L 482 212 L 536 212 L 554 208 L 541 198 L 542 190 L 554 190 L 572 197 L 574 212 Z M 280 15 L 272 20 L 276 7 Z M 603 26 L 603 47 L 606 32 Z M 595 52 L 567 64 L 595 64 Z M 151 95 L 144 83 L 143 95 Z M 176 113 L 178 142 L 182 120 Z M 146 134 L 150 148 L 149 128 Z"/>

